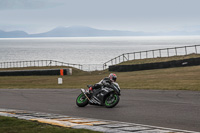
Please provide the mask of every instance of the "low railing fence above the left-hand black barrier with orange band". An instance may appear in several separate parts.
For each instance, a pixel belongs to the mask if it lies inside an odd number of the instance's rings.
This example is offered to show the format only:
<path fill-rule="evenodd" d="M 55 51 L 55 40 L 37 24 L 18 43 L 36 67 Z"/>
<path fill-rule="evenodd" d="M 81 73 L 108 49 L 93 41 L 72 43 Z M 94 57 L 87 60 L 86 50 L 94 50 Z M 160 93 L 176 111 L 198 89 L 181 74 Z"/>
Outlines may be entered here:
<path fill-rule="evenodd" d="M 41 67 L 41 66 L 68 66 L 82 70 L 82 65 L 71 64 L 54 60 L 33 60 L 33 61 L 16 61 L 16 62 L 0 62 L 0 68 L 16 68 L 16 67 Z"/>

